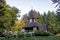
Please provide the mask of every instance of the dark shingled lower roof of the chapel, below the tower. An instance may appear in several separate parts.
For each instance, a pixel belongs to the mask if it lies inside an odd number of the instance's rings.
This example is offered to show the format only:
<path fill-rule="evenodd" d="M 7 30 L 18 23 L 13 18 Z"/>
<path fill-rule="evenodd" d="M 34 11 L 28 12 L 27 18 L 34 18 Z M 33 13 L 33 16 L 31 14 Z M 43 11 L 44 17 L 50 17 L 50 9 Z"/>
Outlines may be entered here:
<path fill-rule="evenodd" d="M 30 27 L 38 27 L 40 28 L 41 30 L 46 30 L 47 29 L 47 26 L 46 25 L 43 25 L 43 24 L 39 24 L 37 22 L 32 22 L 32 23 L 27 23 L 23 26 L 23 28 L 30 28 Z"/>

